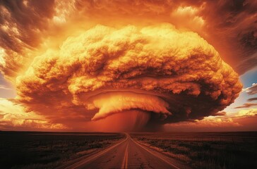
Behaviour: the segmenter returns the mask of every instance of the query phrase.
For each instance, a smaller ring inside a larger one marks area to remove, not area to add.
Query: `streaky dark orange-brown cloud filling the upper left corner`
[[[0,44],[6,61],[0,64],[4,75],[16,76],[31,50],[40,44],[41,35],[54,13],[54,1],[0,1]]]

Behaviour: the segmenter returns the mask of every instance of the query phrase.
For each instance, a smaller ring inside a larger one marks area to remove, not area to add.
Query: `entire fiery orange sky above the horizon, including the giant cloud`
[[[0,130],[256,131],[256,1],[0,1]]]

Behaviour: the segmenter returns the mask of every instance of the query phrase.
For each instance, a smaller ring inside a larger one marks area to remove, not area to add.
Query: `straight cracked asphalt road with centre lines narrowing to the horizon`
[[[157,168],[182,169],[189,168],[177,163],[160,152],[136,142],[126,133],[126,139],[92,156],[81,158],[62,168]]]

